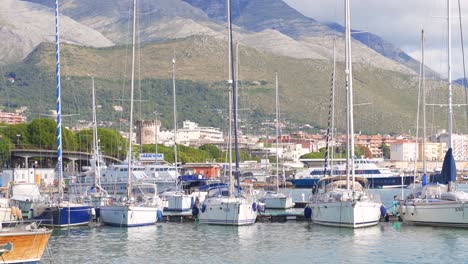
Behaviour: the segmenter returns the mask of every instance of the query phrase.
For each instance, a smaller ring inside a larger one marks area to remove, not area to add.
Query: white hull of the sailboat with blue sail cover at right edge
[[[400,205],[399,213],[404,222],[416,225],[468,227],[466,202],[420,200]]]

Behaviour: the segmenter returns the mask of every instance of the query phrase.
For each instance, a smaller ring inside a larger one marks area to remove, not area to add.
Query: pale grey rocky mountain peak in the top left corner
[[[0,64],[17,62],[41,42],[53,42],[55,20],[53,10],[39,4],[3,0],[0,8]],[[64,17],[61,21],[62,41],[93,47],[114,45],[101,33]]]

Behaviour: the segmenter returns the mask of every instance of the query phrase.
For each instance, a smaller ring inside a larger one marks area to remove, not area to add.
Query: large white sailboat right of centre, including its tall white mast
[[[346,177],[323,177],[318,192],[309,204],[312,221],[320,225],[360,228],[377,225],[382,203],[378,196],[365,191],[367,180],[355,176],[351,30],[349,0],[345,1],[346,21],[346,90],[347,90],[347,159]],[[351,173],[351,175],[350,175]]]

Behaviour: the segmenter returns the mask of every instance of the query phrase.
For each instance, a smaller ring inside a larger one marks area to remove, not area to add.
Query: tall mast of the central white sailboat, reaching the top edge
[[[228,40],[229,40],[229,83],[232,86],[232,107],[233,107],[233,124],[234,124],[234,151],[236,155],[236,168],[235,175],[237,180],[237,186],[240,186],[240,171],[239,171],[239,138],[237,131],[237,85],[234,80],[235,70],[234,70],[234,47],[232,44],[232,17],[231,17],[231,0],[227,0],[227,20],[228,20]]]

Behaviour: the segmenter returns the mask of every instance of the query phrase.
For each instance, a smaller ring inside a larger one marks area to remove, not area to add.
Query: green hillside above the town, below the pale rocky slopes
[[[190,119],[204,126],[226,126],[228,67],[226,43],[209,37],[190,37],[174,42],[147,44],[138,49],[135,102],[137,117],[152,118],[162,113],[163,125],[172,127],[172,56],[177,57],[177,104],[179,121]],[[62,46],[62,100],[64,114],[79,113],[65,119],[90,120],[91,81],[96,76],[98,119],[116,124],[128,119],[131,49],[128,46],[94,49]],[[23,63],[4,67],[0,86],[2,104],[29,107],[27,114],[37,117],[55,106],[55,51],[52,44],[42,44]],[[327,61],[282,57],[240,46],[239,52],[240,118],[249,131],[261,131],[262,121],[274,118],[274,76],[280,79],[282,119],[294,129],[303,124],[325,127],[331,86],[332,65]],[[343,65],[337,69],[337,125],[344,126]],[[427,81],[428,103],[445,103],[445,85]],[[414,131],[416,76],[354,64],[355,128],[363,133],[400,133]],[[140,88],[141,87],[141,88]],[[463,102],[461,89],[455,98]],[[124,98],[124,100],[121,100]],[[124,112],[112,106],[122,105]],[[141,109],[141,111],[140,111]],[[460,110],[457,110],[460,111]],[[431,110],[428,122],[444,128],[444,108]],[[457,113],[456,113],[457,114]],[[461,115],[458,115],[461,116]],[[67,121],[68,120],[68,121]],[[461,119],[459,119],[461,120]],[[68,122],[68,123],[67,123]],[[458,122],[462,125],[461,121]],[[251,129],[251,130],[250,130]]]

